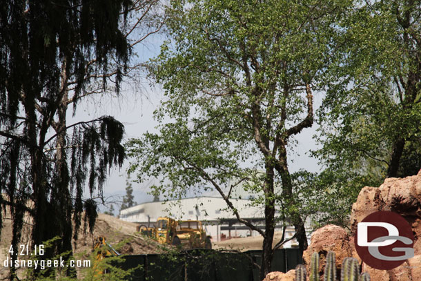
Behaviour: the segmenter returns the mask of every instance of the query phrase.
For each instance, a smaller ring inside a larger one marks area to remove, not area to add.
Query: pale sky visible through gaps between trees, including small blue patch
[[[157,37],[150,39],[136,49],[140,61],[147,61],[151,57],[159,54],[159,46],[162,39]],[[125,140],[135,137],[141,137],[146,132],[157,132],[158,122],[153,119],[153,112],[159,107],[160,101],[164,99],[164,93],[161,87],[154,84],[153,81],[142,79],[141,85],[124,84],[124,90],[119,97],[116,95],[102,95],[89,98],[82,101],[78,107],[75,117],[72,116],[72,110],[68,110],[69,124],[79,121],[95,119],[103,115],[110,115],[123,123],[126,129]],[[315,93],[314,106],[317,108],[322,104],[322,93]],[[308,151],[317,148],[313,135],[316,133],[317,124],[312,128],[305,128],[300,135],[295,138],[297,144],[294,153],[288,155],[288,165],[291,172],[305,169],[310,172],[317,172],[320,166],[317,159],[311,158]],[[126,194],[127,168],[130,159],[127,159],[121,168],[112,168],[109,171],[108,180],[104,185],[104,198],[106,206],[100,204],[99,211],[106,211],[110,204],[117,203],[114,206],[115,214],[118,213],[122,197]],[[132,179],[134,176],[132,176]],[[133,195],[138,204],[150,202],[153,196],[148,194],[149,186],[158,184],[157,182],[146,182],[138,184],[132,182]],[[88,192],[85,193],[89,197]]]

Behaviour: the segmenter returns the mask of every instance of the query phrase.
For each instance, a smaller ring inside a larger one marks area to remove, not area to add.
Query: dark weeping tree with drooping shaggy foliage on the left
[[[1,205],[12,212],[14,247],[24,215],[32,217],[34,244],[61,237],[47,257],[71,253],[83,211],[92,231],[92,196],[101,195],[107,169],[124,160],[124,126],[109,116],[69,125],[69,109],[75,113],[89,95],[118,93],[135,67],[131,47],[144,38],[130,35],[156,3],[9,0],[1,6],[0,191],[6,194]]]

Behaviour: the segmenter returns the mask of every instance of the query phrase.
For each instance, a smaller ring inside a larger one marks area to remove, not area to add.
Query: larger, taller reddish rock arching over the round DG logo
[[[378,188],[362,188],[352,207],[352,233],[355,233],[358,222],[375,211],[393,211],[402,215],[415,236],[415,255],[421,255],[421,171],[412,177],[386,179]]]

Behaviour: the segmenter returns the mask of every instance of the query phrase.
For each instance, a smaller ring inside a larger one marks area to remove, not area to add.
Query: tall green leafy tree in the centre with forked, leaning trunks
[[[157,192],[165,198],[215,188],[237,220],[263,236],[261,277],[271,269],[277,220],[292,222],[300,249],[307,247],[302,186],[287,155],[293,137],[313,124],[313,93],[322,89],[333,23],[345,7],[206,0],[170,1],[166,10],[172,41],[150,66],[166,90],[161,126],[128,142],[130,171],[163,179]],[[231,191],[240,183],[256,193],[264,230],[234,208]]]

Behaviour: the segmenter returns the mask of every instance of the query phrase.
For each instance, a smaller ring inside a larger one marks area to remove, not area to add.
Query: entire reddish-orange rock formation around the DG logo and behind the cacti
[[[373,281],[421,281],[421,171],[412,177],[386,179],[378,188],[370,186],[362,188],[357,202],[352,207],[351,235],[348,235],[342,227],[332,224],[317,229],[311,236],[309,249],[303,254],[307,272],[309,272],[313,252],[320,255],[320,275],[324,271],[328,251],[336,254],[337,273],[345,257],[357,258],[361,262],[355,251],[353,235],[355,235],[358,222],[375,211],[393,211],[409,222],[415,237],[415,257],[389,271],[373,269],[363,263],[362,271],[370,273]],[[280,273],[276,276],[284,278],[286,274]],[[267,279],[268,276],[266,276],[266,281],[290,280]]]

